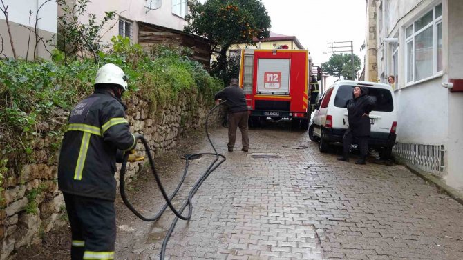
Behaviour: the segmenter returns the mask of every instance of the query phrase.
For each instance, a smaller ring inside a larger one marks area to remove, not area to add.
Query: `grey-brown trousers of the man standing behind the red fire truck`
[[[233,149],[236,141],[236,128],[239,127],[241,131],[241,143],[243,150],[249,149],[249,131],[247,128],[247,120],[249,119],[249,112],[236,112],[228,114],[228,148]]]

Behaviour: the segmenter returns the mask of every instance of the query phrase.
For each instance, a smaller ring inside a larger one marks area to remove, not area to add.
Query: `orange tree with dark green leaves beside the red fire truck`
[[[188,3],[189,14],[185,17],[188,25],[185,32],[198,34],[212,42],[211,53],[217,52],[217,61],[211,66],[215,76],[228,83],[232,75],[227,66],[227,52],[232,44],[254,44],[254,37],[269,37],[270,16],[261,0],[207,0]],[[220,51],[216,47],[220,46]]]

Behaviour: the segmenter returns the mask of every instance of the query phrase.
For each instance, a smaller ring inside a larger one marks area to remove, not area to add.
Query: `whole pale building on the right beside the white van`
[[[463,190],[463,1],[367,3],[365,79],[395,77],[395,154]]]

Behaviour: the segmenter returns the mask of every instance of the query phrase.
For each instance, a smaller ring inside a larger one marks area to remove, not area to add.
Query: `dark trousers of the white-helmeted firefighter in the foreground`
[[[68,212],[72,260],[114,259],[114,201],[63,193]]]

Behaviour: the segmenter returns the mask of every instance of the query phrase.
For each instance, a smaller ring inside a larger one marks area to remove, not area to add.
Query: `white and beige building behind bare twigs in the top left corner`
[[[3,3],[8,7],[6,11],[8,12],[11,37],[17,57],[23,59],[26,57],[33,59],[35,56],[49,58],[50,54],[47,50],[51,51],[53,47],[47,43],[47,40],[53,40],[57,33],[56,1],[4,0]],[[37,48],[35,48],[36,31],[39,38],[44,40],[37,43]],[[1,57],[13,57],[6,17],[3,12],[0,12],[0,35],[3,39]]]

